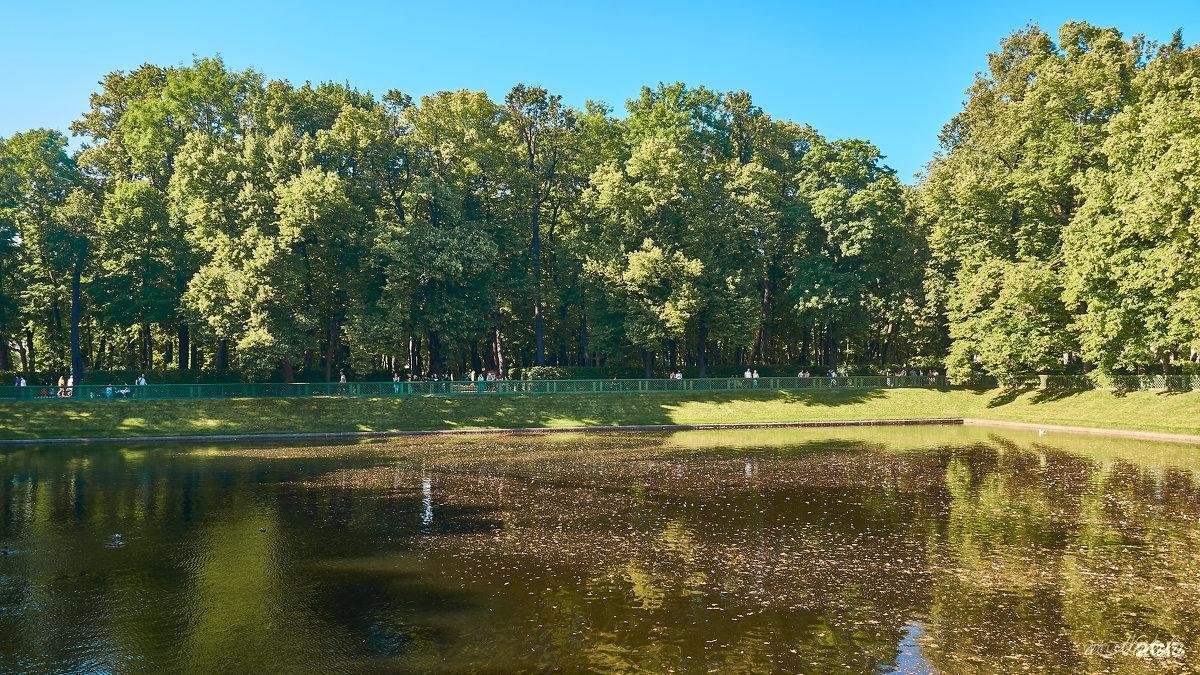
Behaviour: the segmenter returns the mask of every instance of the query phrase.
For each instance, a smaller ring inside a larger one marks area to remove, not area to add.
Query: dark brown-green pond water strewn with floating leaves
[[[976,428],[0,450],[0,671],[1190,671],[1198,454]]]

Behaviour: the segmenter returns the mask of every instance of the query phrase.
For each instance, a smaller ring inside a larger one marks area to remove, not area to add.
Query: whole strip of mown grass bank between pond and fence
[[[964,389],[0,404],[0,438],[976,417],[1200,434],[1200,393]]]

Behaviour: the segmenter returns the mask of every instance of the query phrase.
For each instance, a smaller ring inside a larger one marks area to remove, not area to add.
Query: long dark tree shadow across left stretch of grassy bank
[[[948,389],[947,389],[948,390]],[[396,399],[209,399],[0,405],[0,437],[128,437],[269,432],[432,431],[470,428],[667,425],[689,404],[738,404],[730,419],[754,422],[754,404],[862,406],[887,389],[677,392]],[[712,413],[712,411],[708,411]],[[742,419],[745,417],[746,419]]]

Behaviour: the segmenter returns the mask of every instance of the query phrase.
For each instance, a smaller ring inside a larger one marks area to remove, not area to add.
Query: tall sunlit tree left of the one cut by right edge
[[[1141,40],[1124,41],[1115,29],[1067,23],[1056,46],[1031,26],[989,55],[989,72],[943,130],[943,154],[930,166],[922,202],[935,267],[947,277],[953,374],[970,375],[979,357],[985,368],[1013,375],[972,353],[996,339],[983,330],[1013,331],[1007,342],[1020,342],[1020,323],[984,316],[1001,299],[1045,300],[1032,311],[1057,321],[1043,328],[1061,339],[1038,342],[1055,352],[1025,353],[1020,364],[1061,366],[1063,351],[1078,351],[1070,316],[1061,309],[1062,232],[1082,205],[1079,185],[1099,161],[1108,120],[1128,98],[1141,56]],[[997,263],[1014,269],[1002,271]],[[1014,286],[1026,282],[1032,286]],[[1058,293],[1046,292],[1048,283]]]

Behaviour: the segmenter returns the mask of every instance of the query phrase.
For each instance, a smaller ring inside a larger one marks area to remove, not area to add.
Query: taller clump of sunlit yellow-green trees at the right
[[[968,96],[916,205],[949,372],[1194,368],[1200,50],[1030,28]]]

